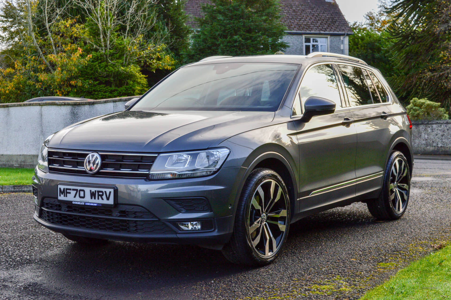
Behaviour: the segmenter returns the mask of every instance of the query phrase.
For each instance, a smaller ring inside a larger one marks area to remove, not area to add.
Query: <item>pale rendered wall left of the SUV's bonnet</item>
[[[123,111],[134,97],[139,96],[0,104],[0,167],[34,168],[46,137],[76,122]]]

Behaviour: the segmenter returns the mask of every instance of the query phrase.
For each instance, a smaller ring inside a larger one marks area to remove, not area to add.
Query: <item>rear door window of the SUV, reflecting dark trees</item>
[[[338,65],[338,68],[345,83],[349,104],[351,106],[373,104],[363,70],[350,65]]]

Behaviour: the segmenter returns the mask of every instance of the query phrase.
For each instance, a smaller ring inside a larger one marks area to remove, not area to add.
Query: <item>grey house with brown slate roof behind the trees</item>
[[[188,0],[185,12],[202,17],[202,3],[209,0]],[[280,0],[281,21],[287,31],[285,54],[308,55],[311,52],[332,52],[349,55],[352,30],[335,0]],[[188,25],[196,29],[191,18]]]

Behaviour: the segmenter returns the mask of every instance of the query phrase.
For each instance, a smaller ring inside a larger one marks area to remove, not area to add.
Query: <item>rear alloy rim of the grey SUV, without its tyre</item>
[[[404,211],[409,200],[409,174],[406,162],[398,157],[391,167],[390,173],[390,201],[396,213]]]

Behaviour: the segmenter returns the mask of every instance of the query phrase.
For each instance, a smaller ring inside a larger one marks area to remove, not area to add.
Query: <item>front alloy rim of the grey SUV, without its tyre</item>
[[[263,181],[253,194],[248,222],[252,246],[261,257],[281,247],[287,222],[287,195],[275,180]]]

